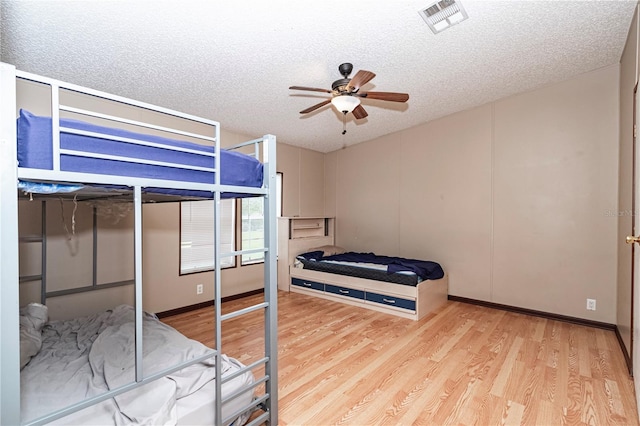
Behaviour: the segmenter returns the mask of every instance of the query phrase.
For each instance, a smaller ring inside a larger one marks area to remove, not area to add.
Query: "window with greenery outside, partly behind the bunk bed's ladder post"
[[[276,216],[282,215],[282,173],[276,173]],[[242,206],[242,249],[264,247],[264,199],[243,198]],[[264,261],[264,253],[242,255],[242,265]]]

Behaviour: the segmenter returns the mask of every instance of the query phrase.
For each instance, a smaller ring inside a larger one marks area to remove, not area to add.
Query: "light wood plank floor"
[[[278,303],[281,425],[638,424],[613,331],[459,302],[417,322],[297,293]],[[212,346],[213,308],[164,321]],[[262,321],[223,323],[222,351],[259,359]]]

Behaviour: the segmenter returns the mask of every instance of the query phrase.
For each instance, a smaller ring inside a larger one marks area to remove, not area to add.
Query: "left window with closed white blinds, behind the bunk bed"
[[[183,201],[180,203],[180,274],[214,269],[213,221],[214,201]],[[235,251],[235,200],[220,203],[220,249]],[[220,259],[221,267],[235,265],[233,256]]]

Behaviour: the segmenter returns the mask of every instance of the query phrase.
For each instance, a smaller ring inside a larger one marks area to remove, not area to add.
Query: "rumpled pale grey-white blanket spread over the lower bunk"
[[[134,310],[121,305],[82,319],[52,322],[42,348],[21,372],[22,420],[28,421],[135,381]],[[210,353],[145,314],[143,375]],[[111,423],[176,424],[176,400],[215,379],[215,358],[114,398]],[[230,368],[223,356],[222,372]]]

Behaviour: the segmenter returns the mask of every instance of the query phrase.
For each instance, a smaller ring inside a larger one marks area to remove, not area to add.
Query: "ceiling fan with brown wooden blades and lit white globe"
[[[351,74],[351,71],[353,71],[353,65],[348,62],[340,64],[340,66],[338,67],[338,71],[340,71],[340,74],[342,74],[343,78],[334,81],[331,85],[331,90],[304,86],[289,87],[289,89],[293,90],[308,90],[312,92],[329,93],[332,96],[331,98],[310,106],[307,109],[303,109],[302,111],[300,111],[300,114],[310,113],[331,103],[336,107],[338,111],[342,113],[343,123],[346,126],[346,115],[348,113],[353,113],[353,116],[357,120],[365,118],[367,115],[369,115],[360,104],[360,98],[377,99],[381,101],[391,102],[407,102],[407,100],[409,100],[409,95],[406,93],[360,92],[360,87],[370,82],[376,76],[371,71],[360,70],[356,73],[356,75],[353,76],[353,78],[349,78],[349,74]],[[343,129],[342,134],[344,135],[346,132],[346,129]]]

